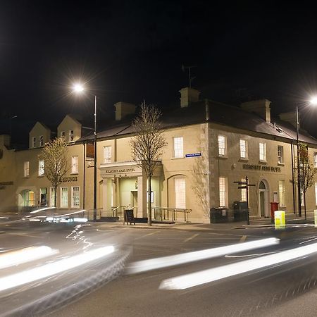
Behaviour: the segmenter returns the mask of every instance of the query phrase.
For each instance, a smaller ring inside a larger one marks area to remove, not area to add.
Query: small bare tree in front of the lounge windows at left
[[[56,206],[57,187],[69,170],[67,154],[67,143],[64,137],[58,137],[46,143],[39,154],[39,160],[44,161],[44,175],[54,188],[54,206]]]

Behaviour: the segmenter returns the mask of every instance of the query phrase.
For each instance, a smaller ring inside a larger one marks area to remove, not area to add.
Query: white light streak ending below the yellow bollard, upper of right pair
[[[189,263],[193,261],[211,259],[216,256],[224,256],[226,254],[233,254],[233,253],[238,253],[241,251],[258,249],[261,247],[269,247],[278,243],[280,243],[279,239],[271,237],[271,238],[263,239],[263,240],[231,244],[225,247],[187,252],[183,254],[176,254],[173,256],[163,256],[157,259],[137,261],[137,262],[131,263],[130,267],[128,268],[128,273],[132,274],[132,273],[146,272],[146,271],[155,270],[157,268],[166,268],[168,266],[176,266],[179,264]]]

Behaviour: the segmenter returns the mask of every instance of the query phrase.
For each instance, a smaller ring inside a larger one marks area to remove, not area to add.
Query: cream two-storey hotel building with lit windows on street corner
[[[212,207],[232,209],[235,201],[246,199],[245,189],[235,182],[247,176],[255,185],[249,189],[251,217],[269,217],[272,201],[287,213],[297,211],[295,113],[273,119],[270,104],[261,99],[228,106],[199,100],[196,89],[181,89],[180,106],[161,118],[167,146],[152,179],[152,206],[178,210],[179,220],[190,210],[189,221],[209,223]],[[145,218],[147,179],[130,153],[136,108],[123,102],[115,106],[116,120],[97,133],[97,209],[113,214],[131,208],[135,216]],[[94,135],[75,116],[66,116],[56,133],[68,141],[71,165],[58,188],[57,207],[92,210]],[[8,136],[0,137],[1,209],[54,205],[53,189],[43,176],[44,162],[37,158],[51,135],[37,123],[24,151],[11,149]],[[317,140],[304,131],[299,140],[307,144],[317,167]],[[316,209],[316,189],[317,180],[306,192],[309,211]]]

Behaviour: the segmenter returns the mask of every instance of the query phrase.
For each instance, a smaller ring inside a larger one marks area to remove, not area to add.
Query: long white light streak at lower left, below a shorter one
[[[71,256],[67,259],[62,259],[53,263],[47,263],[43,266],[32,268],[30,270],[7,275],[4,278],[0,278],[0,291],[8,290],[13,287],[27,284],[28,282],[34,282],[35,280],[40,280],[63,271],[70,270],[71,268],[82,266],[90,261],[101,259],[114,251],[115,248],[113,246],[101,247],[76,256]]]

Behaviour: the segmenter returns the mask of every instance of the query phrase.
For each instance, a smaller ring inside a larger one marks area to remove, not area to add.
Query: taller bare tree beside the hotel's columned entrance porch
[[[161,159],[166,140],[163,137],[159,118],[161,112],[154,105],[141,104],[139,116],[132,123],[135,135],[130,141],[132,158],[147,175],[148,198],[147,214],[148,225],[152,224],[151,218],[151,178],[154,175],[156,163]]]

